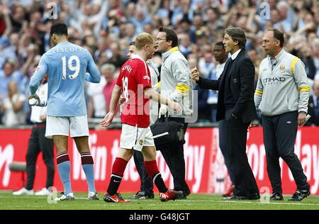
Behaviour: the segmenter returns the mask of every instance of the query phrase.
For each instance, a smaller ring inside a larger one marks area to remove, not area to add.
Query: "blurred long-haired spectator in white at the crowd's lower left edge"
[[[7,127],[25,124],[26,114],[23,113],[25,102],[26,96],[18,92],[17,82],[11,80],[8,85],[8,95],[1,106],[1,111],[4,113],[2,123]]]

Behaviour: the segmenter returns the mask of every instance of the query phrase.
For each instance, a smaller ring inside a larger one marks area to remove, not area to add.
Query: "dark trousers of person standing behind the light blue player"
[[[53,141],[45,138],[45,123],[38,123],[32,128],[32,133],[28,142],[28,152],[26,155],[27,184],[26,189],[33,189],[35,178],[35,163],[39,153],[42,152],[43,160],[47,166],[47,182],[45,187],[53,186],[55,174],[55,164],[53,160]]]

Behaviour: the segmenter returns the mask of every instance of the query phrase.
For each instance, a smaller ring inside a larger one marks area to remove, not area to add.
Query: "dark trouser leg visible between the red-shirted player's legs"
[[[138,174],[140,175],[140,191],[152,192],[153,191],[153,181],[150,175],[147,174],[147,170],[144,165],[144,157],[142,152],[134,152],[134,162],[135,167],[138,169]]]

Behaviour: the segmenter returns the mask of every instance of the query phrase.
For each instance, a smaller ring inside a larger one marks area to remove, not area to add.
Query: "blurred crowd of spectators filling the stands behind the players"
[[[69,41],[89,50],[100,69],[101,83],[86,86],[89,118],[102,118],[108,112],[119,68],[128,59],[128,45],[139,33],[156,35],[160,27],[173,28],[190,67],[196,66],[203,76],[212,78],[218,65],[213,45],[223,41],[225,28],[237,26],[247,35],[246,51],[254,62],[256,82],[259,64],[266,57],[264,31],[284,31],[284,49],[303,61],[310,84],[317,85],[310,96],[313,104],[309,103],[317,115],[309,125],[319,125],[319,82],[313,82],[319,80],[317,0],[0,0],[3,125],[30,123],[28,82],[40,56],[51,47],[52,16],[67,23]],[[160,69],[162,58],[155,55],[152,62]],[[207,93],[198,95],[198,121],[215,121],[210,102]]]

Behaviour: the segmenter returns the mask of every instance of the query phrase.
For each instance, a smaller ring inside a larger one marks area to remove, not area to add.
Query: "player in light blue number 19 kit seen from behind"
[[[57,148],[57,169],[64,186],[64,194],[55,201],[73,200],[70,182],[70,162],[67,141],[74,138],[81,154],[82,168],[89,186],[88,198],[96,200],[93,158],[89,150],[89,126],[84,99],[84,82],[99,83],[101,75],[90,53],[67,41],[67,25],[55,23],[50,30],[52,47],[40,60],[30,79],[29,99],[40,99],[35,94],[40,80],[48,74],[47,128],[45,137],[53,138]],[[89,73],[87,73],[87,72]]]

